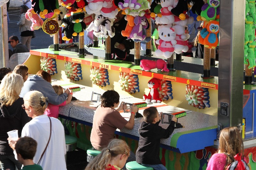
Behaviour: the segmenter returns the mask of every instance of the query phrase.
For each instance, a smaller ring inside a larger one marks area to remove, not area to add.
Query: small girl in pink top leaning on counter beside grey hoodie
[[[61,95],[64,92],[63,87],[61,87],[60,85],[52,85],[52,88],[58,95]],[[65,106],[65,105],[69,104],[71,102],[72,95],[73,95],[73,91],[69,89],[68,98],[63,103],[61,103],[59,105],[53,105],[53,104],[49,103],[44,112],[44,115],[48,115],[50,117],[54,117],[54,118],[58,119],[60,106]]]

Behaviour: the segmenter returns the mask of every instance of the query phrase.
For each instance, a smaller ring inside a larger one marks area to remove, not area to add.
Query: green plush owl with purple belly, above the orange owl
[[[220,13],[220,0],[207,0],[207,4],[202,6],[201,19],[215,20],[216,15]]]

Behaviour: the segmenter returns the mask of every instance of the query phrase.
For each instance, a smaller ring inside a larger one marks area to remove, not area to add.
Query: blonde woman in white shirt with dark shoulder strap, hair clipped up
[[[22,108],[32,120],[22,129],[21,137],[28,136],[36,140],[36,155],[33,159],[35,164],[43,169],[66,170],[64,127],[58,119],[44,115],[46,100],[47,98],[38,91],[30,91],[24,96]],[[10,146],[15,147],[15,141],[9,138],[8,140]]]

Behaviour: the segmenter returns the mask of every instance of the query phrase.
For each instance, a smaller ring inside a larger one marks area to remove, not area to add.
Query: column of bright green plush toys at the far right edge
[[[256,66],[255,58],[255,28],[256,28],[256,8],[255,1],[245,1],[245,25],[244,25],[244,64],[249,65],[248,68],[252,69]],[[248,64],[248,62],[249,64]]]

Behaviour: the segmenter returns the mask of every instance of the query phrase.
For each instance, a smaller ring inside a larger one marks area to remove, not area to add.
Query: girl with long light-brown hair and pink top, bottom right
[[[244,145],[238,128],[222,129],[220,131],[218,153],[212,155],[206,170],[226,170],[238,153],[244,155]]]

